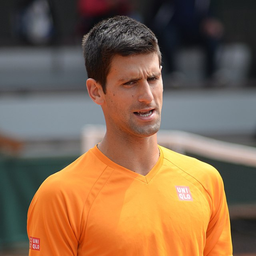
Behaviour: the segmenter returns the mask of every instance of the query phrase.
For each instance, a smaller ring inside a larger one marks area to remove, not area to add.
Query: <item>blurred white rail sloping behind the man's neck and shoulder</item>
[[[82,152],[92,148],[104,137],[104,125],[86,125],[82,132]],[[198,154],[220,161],[256,167],[256,148],[215,140],[184,131],[160,130],[157,133],[159,145],[185,154]]]

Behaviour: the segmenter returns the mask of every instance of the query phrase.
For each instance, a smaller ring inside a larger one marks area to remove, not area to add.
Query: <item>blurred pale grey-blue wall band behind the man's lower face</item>
[[[256,89],[166,90],[162,129],[197,134],[254,134]],[[0,131],[23,139],[77,139],[85,124],[104,124],[84,93],[0,95]]]

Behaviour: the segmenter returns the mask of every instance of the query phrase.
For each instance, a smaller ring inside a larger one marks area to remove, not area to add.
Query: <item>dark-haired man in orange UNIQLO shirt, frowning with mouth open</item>
[[[218,172],[157,145],[161,54],[143,24],[117,16],[83,40],[87,90],[106,134],[47,178],[29,207],[29,255],[232,255]]]

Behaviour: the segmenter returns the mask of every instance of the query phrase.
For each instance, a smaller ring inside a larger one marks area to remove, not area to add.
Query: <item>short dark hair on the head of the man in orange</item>
[[[161,52],[154,33],[144,24],[127,16],[115,16],[96,24],[82,41],[88,78],[102,85],[106,80],[112,58],[156,52],[161,65]]]

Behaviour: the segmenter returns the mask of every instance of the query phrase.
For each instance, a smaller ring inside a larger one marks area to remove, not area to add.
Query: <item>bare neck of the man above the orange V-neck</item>
[[[98,148],[113,162],[141,175],[146,175],[159,158],[156,134],[150,137],[122,137],[116,140],[116,137],[106,133]]]

